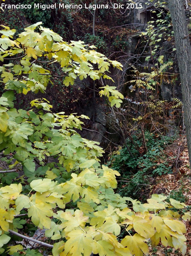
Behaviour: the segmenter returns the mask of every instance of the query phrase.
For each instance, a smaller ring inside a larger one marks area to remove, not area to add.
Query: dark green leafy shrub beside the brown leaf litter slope
[[[131,140],[127,139],[127,144],[134,157],[130,156],[124,146],[120,150],[113,152],[107,162],[108,166],[121,174],[118,186],[120,195],[144,198],[146,197],[149,183],[151,183],[155,175],[162,175],[172,171],[172,166],[168,162],[164,149],[168,144],[172,143],[175,137],[159,136],[149,131],[144,132],[144,137],[147,149],[143,149],[142,135],[136,133],[132,136],[132,139],[139,151]],[[142,154],[140,154],[141,150],[144,150]]]

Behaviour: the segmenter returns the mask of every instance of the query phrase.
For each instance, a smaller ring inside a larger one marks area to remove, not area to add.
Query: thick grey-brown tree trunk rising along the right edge
[[[189,162],[191,166],[191,46],[185,15],[185,0],[168,0],[168,3],[175,35]]]

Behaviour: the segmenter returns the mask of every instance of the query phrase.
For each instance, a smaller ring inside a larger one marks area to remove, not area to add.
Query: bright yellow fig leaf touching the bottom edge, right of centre
[[[143,253],[149,254],[149,247],[146,243],[147,241],[144,237],[139,234],[134,234],[134,236],[125,236],[122,239],[121,244],[129,249],[129,251],[136,256],[143,256]]]

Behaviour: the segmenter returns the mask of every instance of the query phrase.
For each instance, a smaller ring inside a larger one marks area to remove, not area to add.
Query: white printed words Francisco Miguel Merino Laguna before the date
[[[117,4],[118,5],[118,4]],[[116,8],[118,8],[116,5]],[[91,9],[91,10],[96,10],[96,9],[109,9],[110,7],[108,5],[87,5],[86,3],[84,3],[83,5],[76,5],[76,4],[70,4],[70,5],[66,5],[65,3],[59,3],[59,4],[42,4],[42,3],[34,3],[34,5],[24,5],[24,4],[16,4],[16,5],[10,5],[10,4],[6,4],[6,3],[1,3],[0,7],[2,9],[42,9],[42,10],[46,10],[46,9]]]

